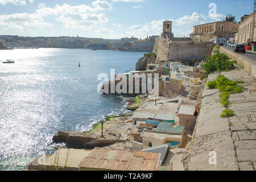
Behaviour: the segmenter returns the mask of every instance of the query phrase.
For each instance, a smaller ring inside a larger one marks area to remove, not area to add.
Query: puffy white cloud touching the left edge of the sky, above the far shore
[[[33,13],[15,13],[11,15],[0,15],[0,26],[18,28],[24,31],[25,27],[51,27],[51,23],[44,22],[42,16]]]

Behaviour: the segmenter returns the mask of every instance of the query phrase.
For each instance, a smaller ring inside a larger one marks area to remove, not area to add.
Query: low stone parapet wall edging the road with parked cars
[[[245,69],[246,72],[250,73],[251,76],[256,77],[256,61],[225,49],[224,47],[221,47],[220,51],[226,53],[232,59],[237,60],[237,62],[243,67],[243,69]]]

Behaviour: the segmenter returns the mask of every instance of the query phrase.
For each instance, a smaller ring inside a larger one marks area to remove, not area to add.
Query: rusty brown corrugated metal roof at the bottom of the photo
[[[159,170],[161,154],[113,148],[94,148],[79,164],[80,168],[115,171]]]

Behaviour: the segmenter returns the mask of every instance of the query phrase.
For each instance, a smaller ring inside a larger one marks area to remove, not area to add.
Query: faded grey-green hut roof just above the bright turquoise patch
[[[173,123],[161,122],[156,128],[156,133],[183,134],[184,126],[173,127]]]

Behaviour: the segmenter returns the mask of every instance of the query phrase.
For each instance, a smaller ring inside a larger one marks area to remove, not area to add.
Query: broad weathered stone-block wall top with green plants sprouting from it
[[[256,169],[256,80],[243,69],[221,72],[230,80],[245,81],[245,92],[231,94],[229,101],[236,116],[221,118],[219,92],[205,85],[195,138],[187,146],[183,163],[187,170]],[[219,73],[210,74],[208,80]],[[228,125],[229,123],[232,125]],[[217,164],[209,164],[209,152],[216,152]]]

